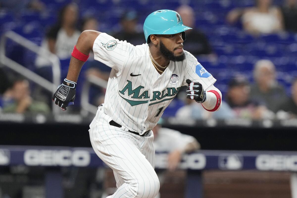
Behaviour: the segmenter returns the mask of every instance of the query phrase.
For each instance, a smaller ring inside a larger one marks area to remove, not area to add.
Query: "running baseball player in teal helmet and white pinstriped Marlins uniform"
[[[69,71],[53,100],[62,110],[75,99],[75,86],[91,50],[94,58],[112,68],[104,104],[90,124],[92,147],[113,169],[117,191],[108,198],[153,198],[159,191],[154,171],[151,129],[176,96],[187,87],[187,98],[208,111],[221,106],[215,79],[183,50],[185,31],[173,10],[151,13],[143,25],[146,44],[133,46],[106,33],[83,31],[72,51]]]

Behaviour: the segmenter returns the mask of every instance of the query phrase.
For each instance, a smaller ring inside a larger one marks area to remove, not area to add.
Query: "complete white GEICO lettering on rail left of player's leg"
[[[91,156],[88,151],[76,150],[26,150],[24,162],[28,166],[78,166],[90,164]]]

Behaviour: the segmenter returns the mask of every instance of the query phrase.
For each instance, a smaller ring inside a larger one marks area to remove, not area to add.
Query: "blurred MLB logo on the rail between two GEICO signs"
[[[243,156],[240,154],[221,154],[219,156],[219,169],[240,170],[243,166]]]

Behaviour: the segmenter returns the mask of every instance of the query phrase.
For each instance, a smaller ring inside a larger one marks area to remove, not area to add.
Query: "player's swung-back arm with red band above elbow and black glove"
[[[75,87],[81,67],[87,61],[90,51],[93,49],[94,41],[100,32],[93,30],[83,31],[74,46],[71,54],[67,77],[59,85],[53,95],[53,101],[59,105],[62,110],[66,110],[68,104],[74,104]]]

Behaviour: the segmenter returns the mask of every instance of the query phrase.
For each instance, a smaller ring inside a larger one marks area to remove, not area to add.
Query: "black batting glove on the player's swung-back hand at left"
[[[64,79],[63,83],[58,86],[57,91],[53,95],[53,101],[59,105],[62,110],[66,110],[67,106],[74,104],[76,83]]]

